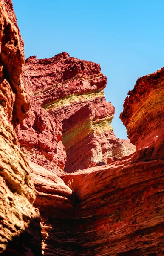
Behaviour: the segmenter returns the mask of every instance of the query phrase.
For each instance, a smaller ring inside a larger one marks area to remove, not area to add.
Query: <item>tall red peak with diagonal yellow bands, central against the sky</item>
[[[50,59],[28,58],[25,72],[29,81],[27,87],[34,92],[35,104],[41,105],[62,124],[62,143],[67,154],[66,172],[90,167],[95,160],[107,163],[108,157],[128,155],[124,141],[113,133],[111,121],[114,107],[105,101],[102,90],[107,79],[101,73],[99,64],[71,58],[68,53],[62,52]],[[30,129],[20,130],[21,147],[27,145],[24,137],[31,138]],[[133,145],[131,150],[135,151]],[[60,151],[64,152],[63,149]],[[63,157],[62,166],[64,160]],[[42,166],[45,167],[44,164]]]

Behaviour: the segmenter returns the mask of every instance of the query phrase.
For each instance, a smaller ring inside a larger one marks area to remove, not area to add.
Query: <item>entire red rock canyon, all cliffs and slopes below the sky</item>
[[[25,60],[0,1],[0,253],[164,255],[164,68],[139,78],[115,136],[99,64]]]

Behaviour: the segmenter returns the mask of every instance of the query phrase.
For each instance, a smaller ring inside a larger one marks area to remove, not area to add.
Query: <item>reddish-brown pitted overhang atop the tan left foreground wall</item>
[[[1,6],[3,4],[1,3]],[[6,105],[5,112],[8,114],[9,121],[13,122],[13,125],[17,125],[22,122],[27,116],[29,109],[28,96],[24,92],[23,83],[21,81],[22,67],[24,64],[24,52],[19,44],[19,36],[17,29],[10,22],[8,17],[1,15],[1,66],[0,72],[3,76],[2,93],[4,94],[2,104]],[[2,82],[1,80],[1,82]],[[10,93],[10,88],[7,83],[9,82],[12,90],[14,91],[13,96]],[[6,104],[10,102],[10,104]],[[10,109],[13,108],[11,111]]]

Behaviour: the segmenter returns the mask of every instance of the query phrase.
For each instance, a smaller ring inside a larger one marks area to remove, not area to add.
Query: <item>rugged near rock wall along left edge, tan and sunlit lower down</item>
[[[27,116],[21,81],[24,53],[16,27],[0,3],[0,253],[40,255],[39,214],[30,168],[13,129]]]

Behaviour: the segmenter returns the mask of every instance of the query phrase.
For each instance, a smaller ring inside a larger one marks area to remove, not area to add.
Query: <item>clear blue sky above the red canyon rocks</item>
[[[119,120],[124,99],[140,76],[164,66],[163,0],[13,0],[25,42],[25,57],[51,58],[60,52],[94,61],[107,76],[106,100]]]

